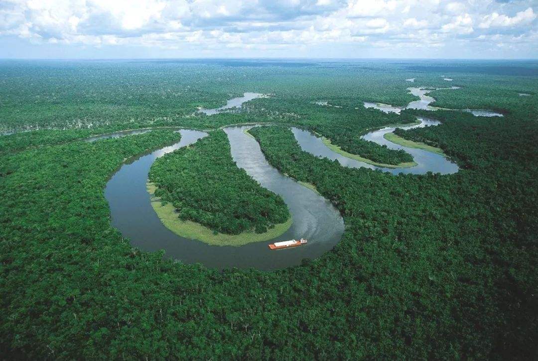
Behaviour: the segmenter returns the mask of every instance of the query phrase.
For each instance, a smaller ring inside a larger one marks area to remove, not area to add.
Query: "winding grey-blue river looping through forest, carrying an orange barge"
[[[258,93],[251,93],[258,94]],[[249,97],[242,97],[243,102]],[[237,98],[236,98],[237,99]],[[242,104],[242,103],[241,103]],[[234,106],[237,106],[234,105]],[[214,113],[213,113],[214,114]],[[423,127],[437,125],[429,119],[419,119]],[[277,169],[273,168],[261,152],[258,142],[245,131],[252,125],[229,126],[224,128],[230,141],[231,155],[237,166],[256,179],[261,186],[280,194],[287,204],[293,219],[292,226],[277,239],[256,242],[240,247],[209,246],[206,243],[186,239],[166,228],[151,206],[150,194],[146,189],[147,175],[153,162],[160,156],[178,148],[193,144],[207,136],[207,133],[192,129],[176,128],[181,133],[181,140],[146,154],[131,158],[110,178],[105,189],[108,200],[112,226],[120,230],[123,236],[131,240],[131,244],[145,251],[165,250],[165,257],[178,259],[184,263],[202,263],[209,268],[257,268],[261,270],[282,269],[300,264],[304,258],[316,258],[332,249],[344,232],[342,216],[325,198],[313,190],[295,182]],[[312,133],[292,127],[292,132],[299,145],[305,151],[316,156],[338,160],[342,165],[353,168],[370,168],[391,172],[392,174],[409,173],[424,174],[427,171],[450,174],[458,170],[457,165],[442,155],[426,150],[403,147],[389,142],[383,135],[394,128],[386,127],[364,135],[364,139],[384,144],[391,149],[404,149],[412,154],[417,163],[412,168],[380,168],[371,164],[352,160],[335,153],[325,146],[320,138]],[[105,138],[140,134],[151,131],[125,131],[98,135],[88,141]],[[271,251],[267,244],[274,241],[298,239],[309,240],[306,246]]]

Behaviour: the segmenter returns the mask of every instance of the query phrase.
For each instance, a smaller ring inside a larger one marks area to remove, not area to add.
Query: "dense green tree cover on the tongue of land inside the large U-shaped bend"
[[[155,196],[171,202],[180,219],[215,232],[264,233],[290,216],[282,197],[237,168],[221,130],[159,158],[149,178],[158,187]]]

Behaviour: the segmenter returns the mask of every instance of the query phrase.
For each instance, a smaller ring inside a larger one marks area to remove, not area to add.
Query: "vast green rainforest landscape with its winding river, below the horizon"
[[[533,359],[537,74],[0,61],[2,358]]]

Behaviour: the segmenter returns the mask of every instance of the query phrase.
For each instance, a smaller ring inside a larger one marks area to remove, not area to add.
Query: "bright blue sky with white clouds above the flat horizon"
[[[537,59],[538,0],[0,0],[0,58]]]

